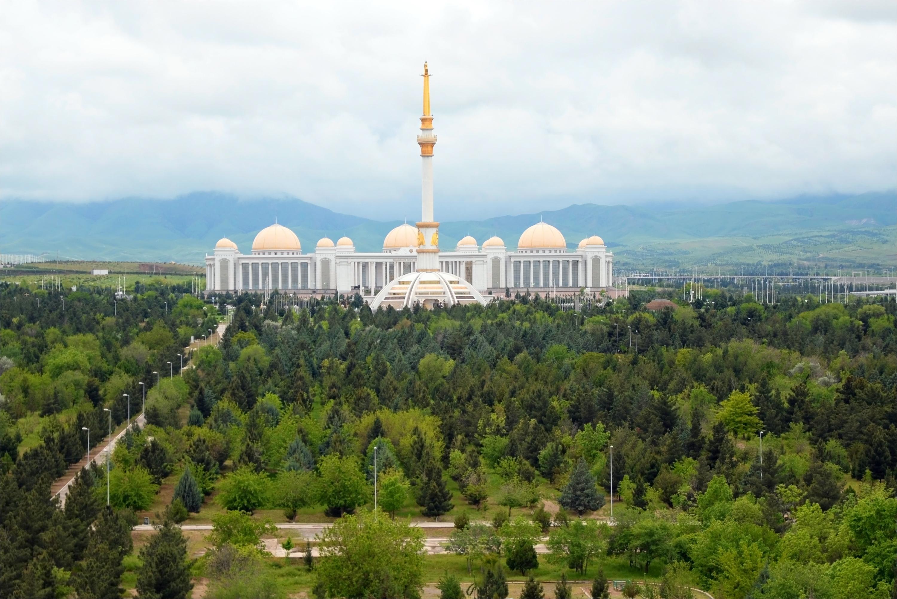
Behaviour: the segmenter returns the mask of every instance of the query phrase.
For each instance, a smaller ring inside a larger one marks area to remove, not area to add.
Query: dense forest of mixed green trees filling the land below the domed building
[[[893,301],[141,291],[0,289],[0,596],[414,597],[437,578],[443,597],[572,596],[567,578],[601,596],[608,577],[633,597],[897,596]],[[60,508],[83,429],[96,445],[127,396],[138,412],[140,383],[145,427]],[[427,519],[454,520],[453,555],[422,554]],[[335,525],[283,563],[272,521]],[[188,551],[182,522],[213,533]]]

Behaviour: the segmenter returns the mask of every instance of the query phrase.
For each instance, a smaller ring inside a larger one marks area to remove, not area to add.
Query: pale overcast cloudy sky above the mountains
[[[897,3],[0,3],[0,198],[437,218],[897,187]],[[462,211],[462,212],[457,212]]]

